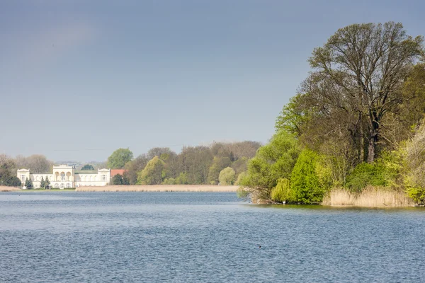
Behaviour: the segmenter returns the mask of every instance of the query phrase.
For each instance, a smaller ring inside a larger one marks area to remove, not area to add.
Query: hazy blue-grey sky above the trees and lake
[[[104,161],[266,143],[314,47],[353,23],[425,35],[425,1],[0,0],[0,153]]]

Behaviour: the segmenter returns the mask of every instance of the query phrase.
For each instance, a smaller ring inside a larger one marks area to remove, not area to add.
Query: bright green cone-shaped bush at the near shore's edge
[[[319,204],[327,188],[320,183],[317,174],[319,155],[304,149],[297,159],[290,179],[293,201],[302,204]],[[292,197],[291,197],[292,198]]]

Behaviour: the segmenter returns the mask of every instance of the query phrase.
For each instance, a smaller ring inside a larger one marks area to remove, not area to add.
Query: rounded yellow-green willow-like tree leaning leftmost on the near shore
[[[248,163],[248,171],[240,185],[249,187],[250,192],[262,200],[270,199],[270,192],[280,178],[290,179],[300,148],[292,134],[277,132],[271,141],[262,146]]]

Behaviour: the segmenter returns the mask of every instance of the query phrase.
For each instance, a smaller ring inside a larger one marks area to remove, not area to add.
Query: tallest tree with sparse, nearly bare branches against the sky
[[[375,160],[385,115],[403,101],[400,88],[424,54],[423,42],[421,36],[407,35],[401,23],[348,25],[309,59],[314,71],[302,90],[322,101],[318,109],[324,115],[358,117],[354,131],[367,142],[368,163]]]

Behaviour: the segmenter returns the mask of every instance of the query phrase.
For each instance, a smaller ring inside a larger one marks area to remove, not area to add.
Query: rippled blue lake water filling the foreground
[[[420,208],[1,193],[0,282],[423,282],[424,235]]]

